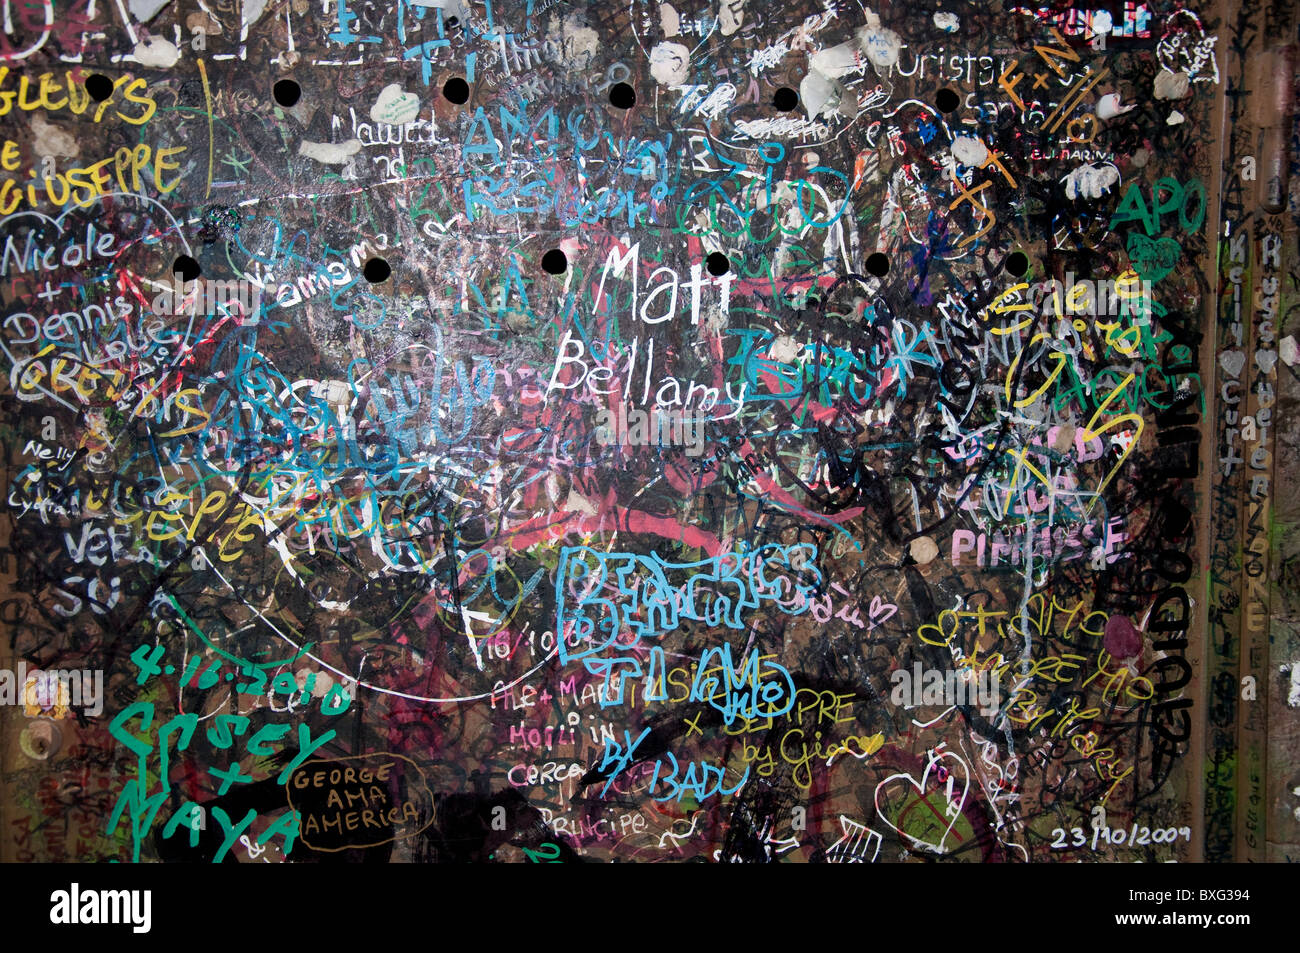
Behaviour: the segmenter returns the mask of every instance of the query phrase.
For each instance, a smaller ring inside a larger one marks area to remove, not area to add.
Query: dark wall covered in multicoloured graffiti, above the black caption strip
[[[1295,34],[12,0],[0,855],[1297,855]]]

